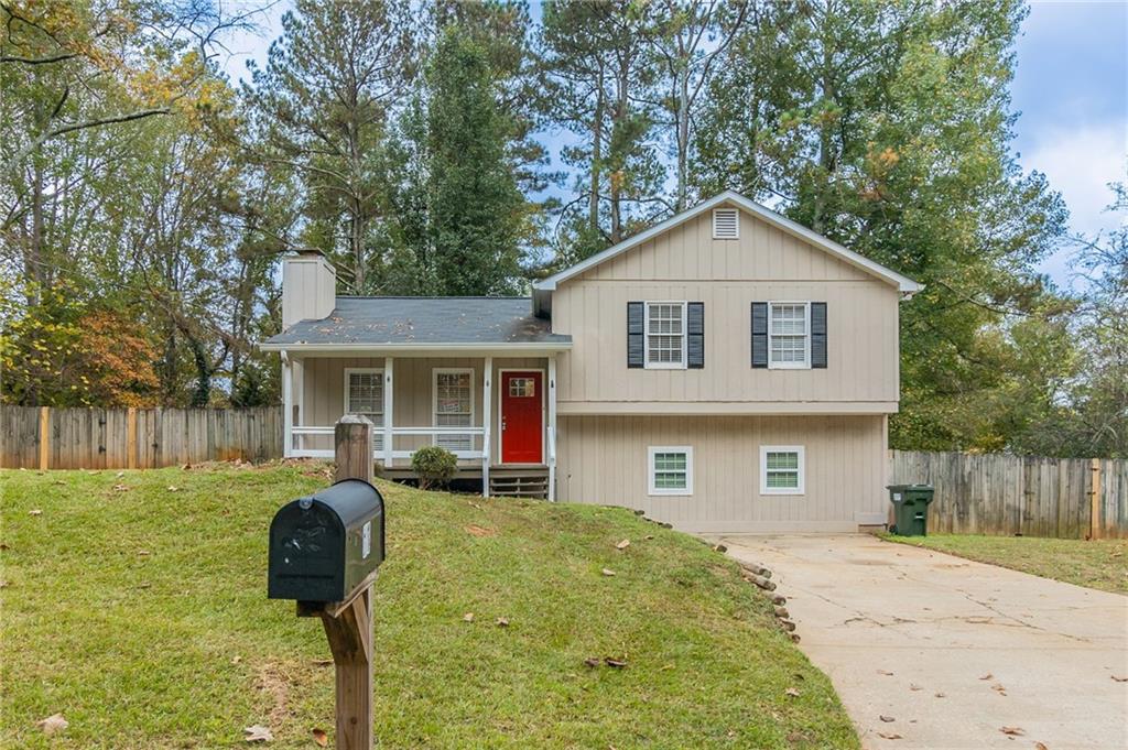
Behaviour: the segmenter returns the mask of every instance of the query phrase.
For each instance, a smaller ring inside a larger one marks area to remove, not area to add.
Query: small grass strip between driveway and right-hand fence
[[[1128,539],[1039,539],[929,535],[885,537],[1079,586],[1128,593]]]

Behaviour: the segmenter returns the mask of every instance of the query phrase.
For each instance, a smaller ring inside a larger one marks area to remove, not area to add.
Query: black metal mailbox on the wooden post
[[[342,479],[274,514],[267,597],[344,601],[382,562],[384,497],[363,479]]]

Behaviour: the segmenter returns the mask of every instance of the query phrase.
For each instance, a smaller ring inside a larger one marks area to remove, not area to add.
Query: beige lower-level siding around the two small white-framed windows
[[[562,415],[557,497],[686,531],[856,531],[883,522],[889,504],[885,418]],[[693,447],[693,495],[649,494],[651,445]],[[761,445],[804,447],[803,495],[760,495]]]

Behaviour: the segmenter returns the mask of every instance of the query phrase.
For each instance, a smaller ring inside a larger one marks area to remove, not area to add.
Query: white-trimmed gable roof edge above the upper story
[[[786,217],[783,217],[776,213],[775,211],[772,211],[770,209],[767,209],[758,203],[755,203],[754,201],[748,200],[743,195],[740,195],[739,193],[734,193],[732,191],[721,193],[720,195],[710,198],[704,203],[700,203],[691,209],[682,211],[681,213],[671,217],[670,219],[667,219],[666,221],[659,224],[655,224],[654,227],[650,228],[644,232],[640,232],[638,235],[635,235],[634,237],[624,240],[618,245],[614,245],[607,248],[602,253],[598,253],[591,256],[590,258],[583,261],[582,263],[578,263],[574,266],[565,268],[559,273],[556,273],[543,281],[539,281],[534,284],[534,289],[538,291],[555,290],[556,285],[559,284],[561,282],[584,274],[585,272],[596,268],[600,264],[603,264],[613,258],[619,257],[623,254],[627,253],[628,250],[640,247],[641,245],[647,241],[654,240],[660,236],[685,224],[686,222],[697,219],[698,217],[705,215],[706,212],[711,211],[712,209],[724,204],[731,204],[740,209],[743,209],[746,212],[752,214],[754,217],[764,221],[768,226],[786,235],[790,235],[794,238],[803,240],[804,244],[819,248],[822,252],[827,253],[832,258],[840,261],[841,263],[847,264],[853,268],[862,271],[870,276],[880,279],[885,283],[896,286],[901,292],[911,293],[922,289],[922,286],[911,279],[904,276],[890,268],[887,268],[885,266],[875,263],[866,258],[865,256],[860,255],[846,247],[843,247],[838,242],[831,241],[826,237],[822,237],[821,235],[817,235],[810,229],[803,227],[802,224],[795,223],[794,221],[787,219]]]

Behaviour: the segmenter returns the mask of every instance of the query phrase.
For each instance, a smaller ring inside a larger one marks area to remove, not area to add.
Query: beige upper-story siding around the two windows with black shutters
[[[714,240],[705,213],[561,282],[553,332],[561,414],[869,413],[897,411],[898,302],[891,284],[741,212],[740,239]],[[702,370],[628,370],[628,301],[705,303]],[[825,301],[828,367],[752,369],[754,301]],[[632,406],[634,405],[634,406]]]

